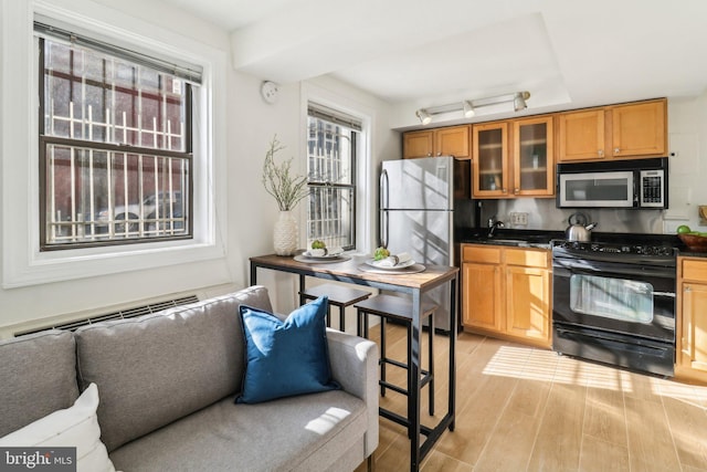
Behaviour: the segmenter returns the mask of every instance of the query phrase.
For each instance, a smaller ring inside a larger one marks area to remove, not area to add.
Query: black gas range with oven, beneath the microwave
[[[673,376],[676,237],[552,240],[552,348]]]

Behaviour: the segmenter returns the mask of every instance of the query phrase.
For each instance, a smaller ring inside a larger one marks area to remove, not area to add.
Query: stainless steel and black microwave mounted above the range
[[[557,165],[558,208],[666,209],[667,157]]]

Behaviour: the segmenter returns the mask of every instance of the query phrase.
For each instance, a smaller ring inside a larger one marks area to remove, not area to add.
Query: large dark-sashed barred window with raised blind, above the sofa
[[[39,21],[34,32],[40,250],[191,238],[201,67]]]

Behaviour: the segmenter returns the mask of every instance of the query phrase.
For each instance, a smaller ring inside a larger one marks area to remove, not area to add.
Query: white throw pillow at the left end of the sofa
[[[48,392],[51,395],[51,392]],[[18,448],[76,448],[78,472],[115,472],[108,451],[101,442],[101,427],[96,417],[98,388],[91,384],[74,406],[54,411],[4,438],[1,447]]]

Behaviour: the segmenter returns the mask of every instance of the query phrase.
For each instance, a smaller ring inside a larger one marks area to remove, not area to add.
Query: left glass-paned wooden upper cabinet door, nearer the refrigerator
[[[474,125],[473,165],[476,198],[508,197],[508,122]]]

